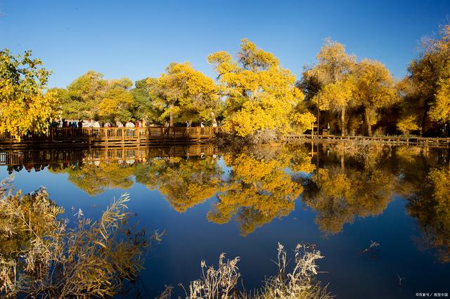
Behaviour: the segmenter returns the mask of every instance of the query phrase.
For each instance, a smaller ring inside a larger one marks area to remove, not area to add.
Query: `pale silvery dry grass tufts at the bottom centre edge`
[[[184,289],[186,298],[299,298],[299,299],[328,299],[333,298],[315,280],[318,274],[316,260],[323,258],[314,245],[297,244],[293,269],[288,271],[287,254],[283,245],[278,244],[278,273],[266,278],[264,285],[250,293],[238,291],[240,273],[237,264],[239,258],[224,262],[225,255],[219,256],[219,267],[207,267],[202,261],[202,277],[192,281],[188,290]],[[206,270],[206,272],[205,272]],[[171,289],[172,290],[172,289]],[[169,297],[163,297],[169,298]]]

